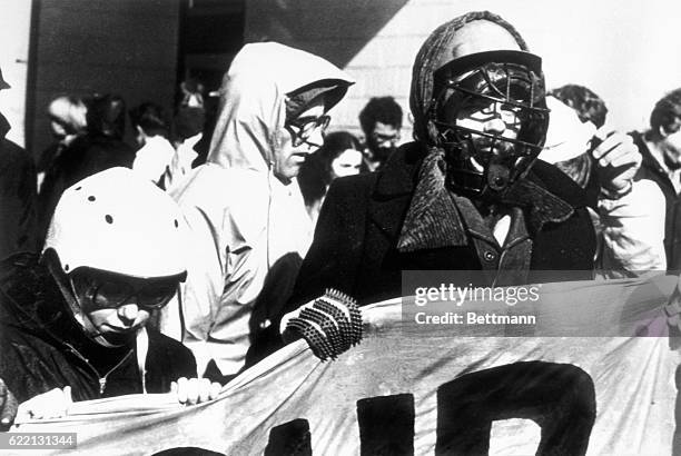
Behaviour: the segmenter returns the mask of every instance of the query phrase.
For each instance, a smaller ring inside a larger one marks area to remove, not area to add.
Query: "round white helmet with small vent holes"
[[[186,272],[186,231],[177,204],[128,168],[110,168],[69,187],[48,229],[65,274],[80,267],[138,278]]]

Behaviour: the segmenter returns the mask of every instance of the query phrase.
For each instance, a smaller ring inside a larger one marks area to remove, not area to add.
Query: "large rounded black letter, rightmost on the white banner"
[[[463,375],[437,390],[436,455],[490,450],[496,419],[542,428],[537,455],[583,455],[595,420],[593,380],[570,364],[515,363]]]

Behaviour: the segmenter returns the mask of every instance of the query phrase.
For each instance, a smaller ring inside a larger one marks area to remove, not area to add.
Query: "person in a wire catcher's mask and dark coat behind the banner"
[[[415,141],[381,172],[334,182],[287,309],[326,288],[361,304],[402,296],[403,270],[484,270],[472,274],[480,286],[526,284],[535,270],[591,279],[588,199],[536,160],[549,125],[541,63],[491,12],[437,28],[414,62]],[[599,158],[630,151],[619,138]]]

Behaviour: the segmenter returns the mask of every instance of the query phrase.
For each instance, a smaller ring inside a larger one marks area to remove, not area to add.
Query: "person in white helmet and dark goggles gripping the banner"
[[[171,388],[185,402],[215,397],[191,353],[146,327],[185,280],[184,236],[171,198],[111,168],[63,192],[40,257],[0,264],[0,378],[22,418]]]

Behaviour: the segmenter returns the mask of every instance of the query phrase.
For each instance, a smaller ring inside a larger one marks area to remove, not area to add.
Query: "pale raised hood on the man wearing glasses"
[[[276,42],[246,44],[223,80],[207,161],[266,172],[274,159],[275,135],[286,119],[287,93],[319,81],[343,90],[354,82],[312,53]]]

